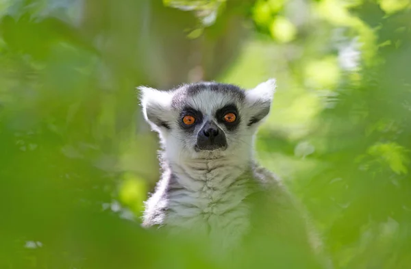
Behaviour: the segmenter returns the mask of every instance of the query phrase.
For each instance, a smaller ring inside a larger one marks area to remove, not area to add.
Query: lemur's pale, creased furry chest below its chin
[[[179,231],[207,235],[221,244],[235,244],[249,229],[253,192],[240,168],[191,170],[170,186],[166,224]]]

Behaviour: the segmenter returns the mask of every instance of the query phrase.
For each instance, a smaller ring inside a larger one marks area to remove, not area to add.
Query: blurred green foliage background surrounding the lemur
[[[135,88],[270,77],[258,157],[335,267],[411,268],[410,8],[0,0],[0,268],[214,268],[140,229],[158,140]]]

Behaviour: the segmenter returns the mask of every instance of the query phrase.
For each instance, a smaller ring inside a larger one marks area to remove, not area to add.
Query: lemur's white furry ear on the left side
[[[157,131],[160,129],[170,129],[171,99],[173,94],[169,91],[156,90],[153,88],[139,86],[140,103],[142,114],[147,123]]]

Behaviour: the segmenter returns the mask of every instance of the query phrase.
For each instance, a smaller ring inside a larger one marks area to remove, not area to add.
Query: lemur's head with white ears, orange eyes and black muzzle
[[[258,125],[269,114],[275,79],[251,90],[215,82],[138,90],[145,120],[159,133],[167,158],[247,157]]]

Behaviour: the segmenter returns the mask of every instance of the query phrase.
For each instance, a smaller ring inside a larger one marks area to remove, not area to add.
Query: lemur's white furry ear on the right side
[[[245,92],[250,112],[248,126],[260,122],[269,114],[276,87],[275,79],[269,79]]]

